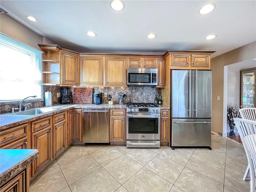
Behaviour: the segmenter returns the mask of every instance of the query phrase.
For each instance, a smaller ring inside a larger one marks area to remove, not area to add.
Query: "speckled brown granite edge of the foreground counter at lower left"
[[[0,186],[5,184],[10,178],[14,177],[16,174],[24,170],[31,162],[36,160],[39,157],[39,151],[36,149],[27,149],[35,150],[32,154],[21,160],[16,165],[8,168],[0,174]]]

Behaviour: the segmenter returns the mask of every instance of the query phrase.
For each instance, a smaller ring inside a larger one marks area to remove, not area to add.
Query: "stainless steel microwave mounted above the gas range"
[[[157,69],[155,68],[128,68],[127,85],[129,86],[156,86]]]

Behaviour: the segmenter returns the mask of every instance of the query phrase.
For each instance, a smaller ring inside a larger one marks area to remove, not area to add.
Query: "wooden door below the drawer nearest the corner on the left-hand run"
[[[65,149],[66,120],[53,125],[53,158]]]

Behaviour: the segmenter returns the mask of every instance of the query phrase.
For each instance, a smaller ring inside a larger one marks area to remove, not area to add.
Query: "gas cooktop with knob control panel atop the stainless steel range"
[[[126,112],[160,113],[160,107],[158,107],[154,103],[128,103]]]

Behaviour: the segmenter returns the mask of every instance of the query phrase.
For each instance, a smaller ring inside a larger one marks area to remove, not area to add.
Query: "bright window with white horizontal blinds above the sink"
[[[0,101],[43,98],[42,52],[0,34]]]

